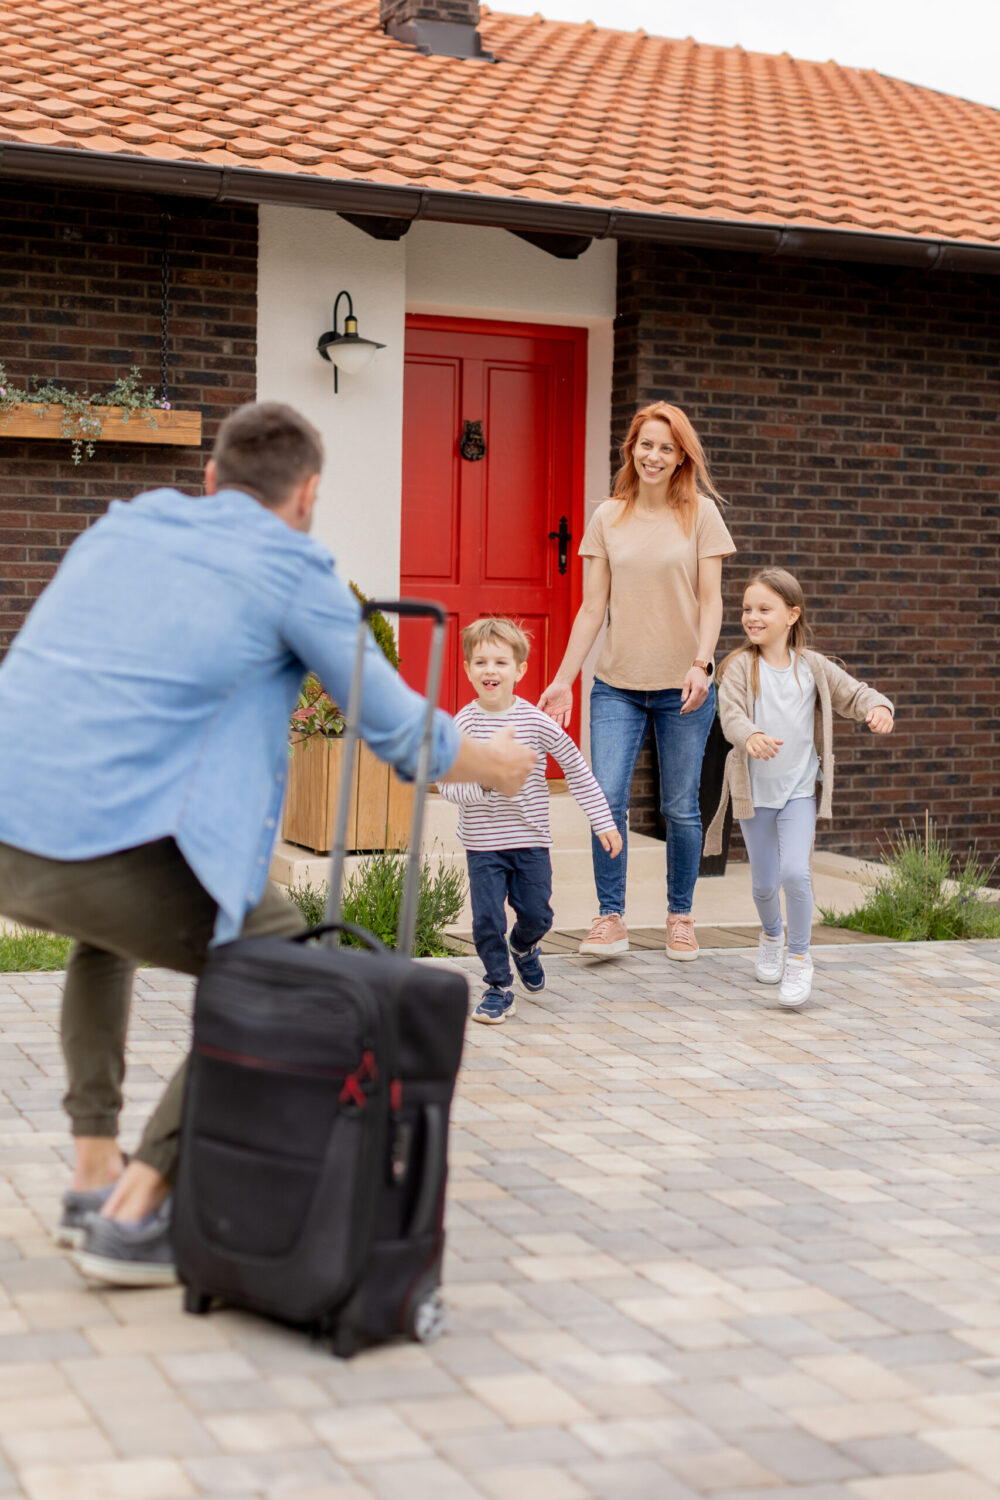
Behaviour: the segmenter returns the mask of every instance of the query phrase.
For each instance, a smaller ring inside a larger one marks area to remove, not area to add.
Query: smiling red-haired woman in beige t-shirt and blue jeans
[[[723,624],[723,558],[736,550],[702,444],[679,406],[633,417],[610,500],[580,543],[591,560],[565,656],[538,706],[565,724],[573,682],[607,616],[591,692],[591,762],[622,837],[631,778],[652,723],[667,824],[667,957],[697,958],[691,903],[702,856],[699,780],[715,714],[712,652]],[[627,846],[592,840],[600,914],[580,952],[628,951]]]

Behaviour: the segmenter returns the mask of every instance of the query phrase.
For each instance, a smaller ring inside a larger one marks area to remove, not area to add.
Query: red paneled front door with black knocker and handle
[[[511,615],[531,633],[522,698],[537,702],[559,664],[580,597],[585,382],[585,328],[406,320],[400,592],[448,612],[451,712],[472,696],[459,638],[478,615]],[[414,687],[426,663],[427,627],[403,621],[400,670]]]

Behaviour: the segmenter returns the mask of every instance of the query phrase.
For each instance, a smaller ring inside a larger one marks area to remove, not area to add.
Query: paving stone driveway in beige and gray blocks
[[[547,960],[469,1028],[451,1330],[349,1365],[82,1286],[60,976],[3,976],[0,1492],[1000,1500],[1000,944],[816,964],[789,1016],[747,951]],[[189,999],[139,980],[126,1138]]]

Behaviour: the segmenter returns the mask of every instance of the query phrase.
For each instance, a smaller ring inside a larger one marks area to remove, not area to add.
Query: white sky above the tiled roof
[[[834,58],[1000,110],[1000,0],[487,0],[517,15]]]

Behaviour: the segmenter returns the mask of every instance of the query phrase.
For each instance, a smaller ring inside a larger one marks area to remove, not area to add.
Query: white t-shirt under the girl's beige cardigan
[[[795,796],[816,796],[820,758],[816,753],[816,678],[802,657],[786,668],[759,658],[760,692],[754,699],[754,724],[783,740],[774,760],[750,762],[754,807],[784,807]]]

